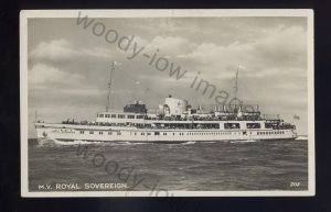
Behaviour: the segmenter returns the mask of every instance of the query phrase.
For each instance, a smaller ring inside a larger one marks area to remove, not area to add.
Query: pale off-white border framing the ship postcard
[[[77,18],[82,11],[90,18],[168,16],[307,16],[308,30],[308,190],[307,191],[169,191],[173,197],[307,197],[316,194],[314,169],[314,87],[313,11],[277,10],[22,10],[20,13],[20,112],[21,112],[21,196],[22,197],[149,197],[150,191],[29,191],[28,179],[28,19]]]

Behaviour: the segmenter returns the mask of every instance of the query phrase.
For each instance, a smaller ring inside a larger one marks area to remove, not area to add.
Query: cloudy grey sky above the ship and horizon
[[[126,51],[118,47],[124,36],[132,38]],[[232,99],[239,68],[244,104],[259,104],[263,114],[280,114],[307,134],[307,18],[108,18],[86,27],[77,19],[29,19],[29,123],[35,111],[45,122],[95,120],[105,111],[113,62],[116,110],[136,100],[157,109],[169,94],[212,108],[215,96],[191,88],[194,77]],[[171,66],[181,67],[181,78],[169,75]]]

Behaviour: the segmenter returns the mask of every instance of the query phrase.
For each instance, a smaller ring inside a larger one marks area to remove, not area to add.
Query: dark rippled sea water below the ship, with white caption
[[[308,141],[159,144],[30,140],[29,190],[63,191],[56,185],[64,190],[85,190],[86,185],[96,190],[137,191],[307,190]]]

